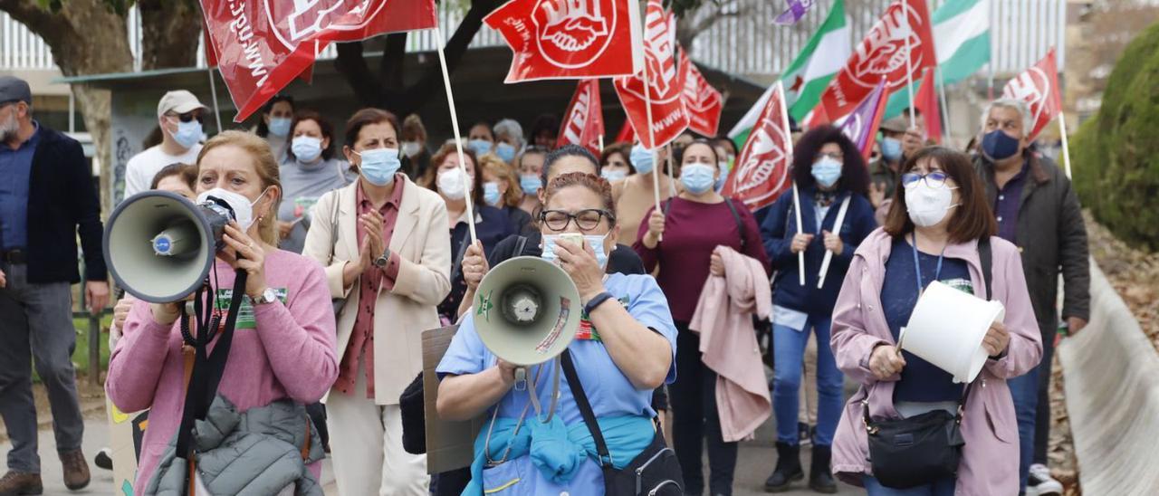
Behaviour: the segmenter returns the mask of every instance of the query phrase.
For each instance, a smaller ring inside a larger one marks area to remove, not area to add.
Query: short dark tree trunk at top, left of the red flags
[[[141,70],[192,67],[202,12],[194,0],[140,0]]]

